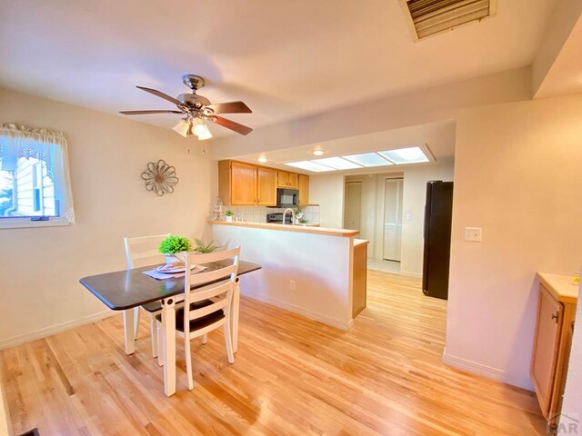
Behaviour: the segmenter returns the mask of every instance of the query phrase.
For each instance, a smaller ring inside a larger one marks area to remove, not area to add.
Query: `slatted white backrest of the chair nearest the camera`
[[[186,271],[190,271],[193,264],[213,263],[212,270],[208,272],[186,273],[184,280],[184,307],[188,311],[184,316],[184,332],[190,332],[190,320],[206,316],[210,313],[218,312],[221,309],[229,316],[230,306],[233,299],[233,290],[236,285],[236,272],[238,272],[238,259],[240,247],[223,252],[194,254],[191,252],[181,253],[186,263]],[[216,268],[216,269],[215,269]],[[221,280],[222,279],[222,280]],[[197,289],[192,286],[208,283]],[[213,304],[202,308],[192,309],[192,302],[213,299]]]

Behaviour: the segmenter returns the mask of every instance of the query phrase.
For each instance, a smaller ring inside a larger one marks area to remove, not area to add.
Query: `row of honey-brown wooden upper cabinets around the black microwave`
[[[299,189],[309,203],[309,176],[236,161],[218,162],[218,195],[233,206],[276,206],[276,189]]]

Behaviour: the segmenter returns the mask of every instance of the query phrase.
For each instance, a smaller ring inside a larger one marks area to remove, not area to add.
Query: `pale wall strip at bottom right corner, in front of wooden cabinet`
[[[578,199],[580,196],[578,195]],[[577,327],[574,329],[574,338],[572,339],[572,349],[570,352],[570,362],[567,370],[567,385],[564,392],[564,402],[562,404],[562,412],[572,418],[578,420],[577,432],[561,431],[558,434],[582,434],[582,328],[580,328],[580,320],[582,320],[582,285],[578,292],[577,304]],[[560,422],[559,430],[569,430],[567,425],[573,421],[566,418]]]

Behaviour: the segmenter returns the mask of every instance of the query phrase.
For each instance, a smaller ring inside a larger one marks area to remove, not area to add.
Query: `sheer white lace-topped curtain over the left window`
[[[0,159],[21,157],[33,157],[46,163],[46,172],[55,183],[61,217],[75,223],[65,134],[24,125],[0,124]]]

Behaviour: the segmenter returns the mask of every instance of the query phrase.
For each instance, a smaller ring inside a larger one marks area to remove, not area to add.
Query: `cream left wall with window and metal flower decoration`
[[[65,132],[76,214],[66,227],[0,229],[0,348],[109,314],[78,280],[124,269],[125,235],[205,232],[216,163],[191,138],[5,90],[0,120]],[[158,159],[176,166],[176,193],[146,192],[140,174]]]

